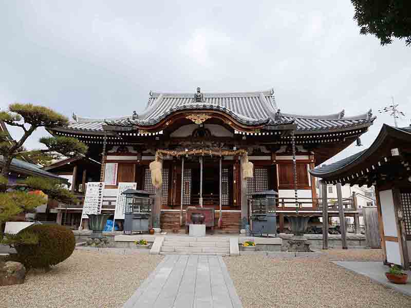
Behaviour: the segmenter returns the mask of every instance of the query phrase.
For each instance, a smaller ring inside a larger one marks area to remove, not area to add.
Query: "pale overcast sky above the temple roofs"
[[[368,146],[383,123],[394,123],[377,112],[391,95],[407,113],[399,124],[410,124],[411,48],[360,35],[353,14],[348,0],[0,0],[0,106],[108,118],[141,111],[150,90],[274,88],[283,112],[372,108]],[[38,148],[45,133],[27,147]]]

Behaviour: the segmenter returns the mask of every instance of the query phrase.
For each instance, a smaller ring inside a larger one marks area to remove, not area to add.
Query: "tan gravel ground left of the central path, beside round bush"
[[[162,259],[76,250],[48,273],[0,287],[0,307],[121,307]]]

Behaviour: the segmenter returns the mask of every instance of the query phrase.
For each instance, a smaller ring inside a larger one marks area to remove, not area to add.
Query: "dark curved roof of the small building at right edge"
[[[403,144],[411,143],[411,127],[396,128],[384,124],[378,134],[376,140],[371,146],[361,152],[344,158],[338,162],[322,165],[310,170],[310,174],[314,177],[323,179],[334,179],[343,176],[350,172],[354,167],[362,163],[370,163],[370,158],[373,154],[379,155],[381,148],[387,146],[388,142],[393,142],[394,139],[400,140]],[[388,149],[389,150],[389,149]]]

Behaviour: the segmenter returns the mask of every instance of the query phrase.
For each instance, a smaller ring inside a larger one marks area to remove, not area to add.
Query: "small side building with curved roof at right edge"
[[[411,256],[411,127],[384,124],[372,145],[310,170],[324,185],[375,186],[384,264],[407,268]]]

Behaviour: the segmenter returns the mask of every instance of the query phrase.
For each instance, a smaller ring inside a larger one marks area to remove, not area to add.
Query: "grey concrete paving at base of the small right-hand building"
[[[393,288],[398,292],[411,296],[411,271],[407,271],[408,281],[406,284],[394,284],[390,283],[387,280],[387,277],[385,277],[388,266],[384,265],[382,262],[335,261],[334,263],[357,274],[367,276],[371,280]]]

